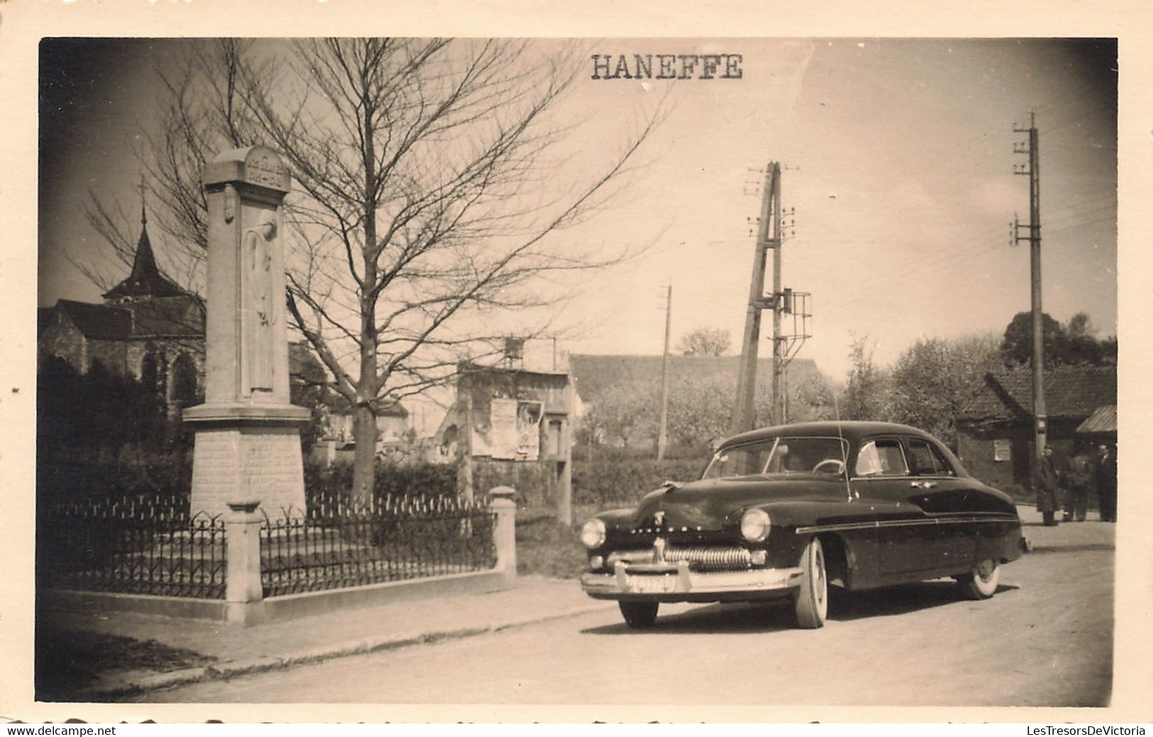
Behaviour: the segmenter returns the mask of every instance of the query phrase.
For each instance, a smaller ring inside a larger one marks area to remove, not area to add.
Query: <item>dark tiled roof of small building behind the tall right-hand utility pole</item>
[[[1116,366],[1056,366],[1045,370],[1045,409],[1050,419],[1084,420],[1099,407],[1116,404]],[[1031,419],[1032,369],[1024,366],[986,374],[984,385],[962,405],[959,415],[984,423]]]

